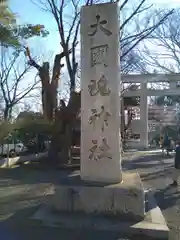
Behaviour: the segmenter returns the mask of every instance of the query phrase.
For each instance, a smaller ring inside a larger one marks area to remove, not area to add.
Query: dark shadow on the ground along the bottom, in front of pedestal
[[[97,231],[88,229],[67,229],[63,226],[45,227],[41,222],[30,219],[37,207],[28,207],[17,211],[8,219],[0,222],[0,239],[7,240],[140,240],[144,236],[122,236],[115,231]],[[145,237],[146,240],[153,240]]]

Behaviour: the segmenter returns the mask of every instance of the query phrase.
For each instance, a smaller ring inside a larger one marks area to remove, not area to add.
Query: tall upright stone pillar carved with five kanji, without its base
[[[120,157],[120,46],[116,3],[81,10],[81,179],[117,183]]]

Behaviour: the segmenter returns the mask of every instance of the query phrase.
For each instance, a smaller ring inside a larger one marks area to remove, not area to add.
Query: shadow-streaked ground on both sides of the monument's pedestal
[[[130,158],[134,156],[131,161]],[[124,170],[137,169],[146,188],[156,196],[170,228],[170,240],[180,239],[180,187],[170,188],[173,158],[160,153],[125,154]],[[48,201],[52,185],[69,171],[39,170],[32,165],[0,169],[0,239],[104,239],[120,240],[117,233],[67,231],[63,228],[44,228],[29,219],[39,203]],[[36,231],[34,231],[36,230]],[[133,239],[134,240],[134,239]],[[138,238],[140,240],[140,238]],[[147,240],[147,239],[146,239]]]

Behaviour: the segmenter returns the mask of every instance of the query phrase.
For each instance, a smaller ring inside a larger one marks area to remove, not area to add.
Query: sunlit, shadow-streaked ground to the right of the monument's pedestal
[[[170,229],[169,240],[180,239],[180,186],[170,187],[173,157],[161,153],[140,156],[132,161],[132,169],[140,172],[144,186],[155,193],[156,200]]]

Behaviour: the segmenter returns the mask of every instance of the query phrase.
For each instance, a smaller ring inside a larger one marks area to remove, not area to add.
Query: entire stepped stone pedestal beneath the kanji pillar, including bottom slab
[[[74,229],[81,239],[89,233],[93,233],[89,239],[104,239],[106,234],[109,239],[168,239],[166,221],[153,194],[144,192],[137,173],[123,173],[122,183],[113,185],[82,181],[78,174],[60,174],[59,185],[49,191],[53,195],[44,196],[48,205],[43,204],[31,217],[41,226],[58,229],[60,236],[62,230]]]

